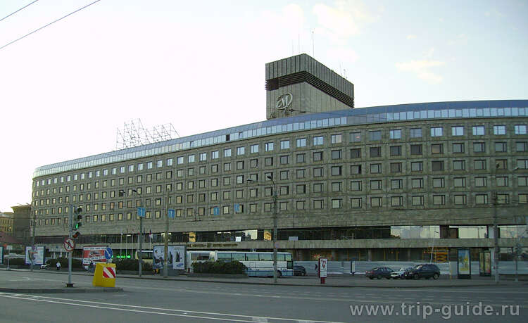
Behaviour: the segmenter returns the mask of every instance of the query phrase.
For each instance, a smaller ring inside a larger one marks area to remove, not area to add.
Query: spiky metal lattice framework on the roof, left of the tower
[[[172,124],[154,126],[151,130],[143,127],[140,119],[125,122],[122,129],[117,129],[115,149],[125,149],[180,137]]]

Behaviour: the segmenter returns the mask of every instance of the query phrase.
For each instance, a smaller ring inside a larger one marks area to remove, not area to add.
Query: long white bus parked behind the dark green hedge
[[[193,262],[239,261],[246,267],[250,277],[273,276],[273,253],[260,251],[187,251],[187,270],[192,271]],[[291,253],[277,253],[277,277],[293,276],[294,262]]]

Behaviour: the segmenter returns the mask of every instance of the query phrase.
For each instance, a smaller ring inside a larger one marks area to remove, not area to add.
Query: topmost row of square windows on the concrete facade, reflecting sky
[[[420,138],[422,137],[422,128],[410,128],[409,130],[409,137],[410,138]],[[389,129],[389,138],[390,139],[401,139],[402,138],[402,129]],[[453,126],[451,127],[452,135],[453,136],[463,136],[465,134],[465,128],[463,126]],[[444,136],[444,127],[431,127],[430,128],[431,137],[441,137]],[[514,125],[513,126],[513,132],[514,134],[527,134],[527,125]],[[368,139],[369,141],[381,141],[382,140],[382,130],[372,130],[367,131],[368,133]],[[472,127],[472,134],[474,136],[482,136],[485,132],[485,126],[484,125],[478,125]],[[506,134],[506,125],[494,125],[493,126],[493,134],[495,135],[503,135]],[[357,131],[357,132],[351,132],[349,134],[349,141],[350,142],[361,142],[363,138],[363,131]],[[325,137],[320,135],[313,136],[313,146],[323,146],[325,145]],[[296,139],[296,146],[298,148],[306,147],[307,146],[307,138],[299,138]],[[330,135],[330,143],[331,144],[341,144],[343,142],[343,135],[342,134],[331,134]],[[483,143],[482,143],[483,144]],[[526,151],[526,142],[524,143],[518,143],[517,145],[517,151]],[[275,143],[273,141],[266,142],[263,144],[265,151],[274,151],[275,150]],[[524,146],[524,148],[523,148]],[[252,144],[250,146],[250,153],[258,153],[259,152],[259,144]],[[280,149],[285,150],[290,148],[290,140],[281,140],[280,141]],[[521,150],[520,150],[521,149]],[[223,151],[223,157],[229,158],[232,156],[232,148],[224,148]],[[246,153],[245,146],[239,146],[236,148],[237,156],[242,156]],[[196,160],[196,156],[198,156],[199,161],[206,161],[208,160],[208,153],[203,152],[199,154],[189,154],[187,156],[187,163],[194,163]],[[210,152],[210,158],[212,160],[220,158],[220,151],[211,151]],[[177,165],[183,165],[184,164],[184,156],[178,156],[176,159]],[[315,160],[315,159],[314,159]],[[165,163],[163,163],[165,161]],[[152,169],[154,165],[156,167],[163,167],[168,166],[171,167],[174,163],[174,158],[166,158],[158,159],[156,160],[156,163],[154,164],[153,161],[145,162],[145,163],[137,163],[137,164],[130,164],[130,165],[121,165],[119,167],[112,167],[110,169],[103,169],[101,170],[95,170],[95,171],[88,171],[88,172],[81,172],[80,174],[74,174],[74,175],[66,175],[61,177],[54,177],[49,179],[41,179],[34,182],[35,186],[44,186],[45,184],[58,184],[63,182],[70,182],[71,180],[78,180],[78,179],[85,179],[85,178],[93,178],[93,177],[101,177],[107,176],[109,174],[111,175],[117,175],[117,174],[125,174],[125,170],[128,170],[128,172],[134,172],[134,171],[142,171],[144,170],[144,167],[146,166],[146,169]]]

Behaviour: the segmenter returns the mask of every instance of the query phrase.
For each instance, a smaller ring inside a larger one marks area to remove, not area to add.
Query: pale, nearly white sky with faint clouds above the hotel
[[[94,0],[0,0],[0,48]],[[4,17],[7,18],[3,19]],[[0,211],[35,168],[265,120],[265,63],[308,53],[356,107],[528,99],[528,1],[101,0],[0,49]]]

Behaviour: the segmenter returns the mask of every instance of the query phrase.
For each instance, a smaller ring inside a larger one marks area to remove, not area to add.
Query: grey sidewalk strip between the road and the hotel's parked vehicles
[[[19,272],[27,272],[29,270],[15,270]],[[52,270],[36,270],[36,272],[46,272],[50,275],[61,274],[64,275],[64,280],[67,281],[68,272],[56,272]],[[175,277],[163,278],[163,275],[145,274],[138,277],[137,274],[119,274],[117,273],[116,286],[119,286],[121,279],[152,279],[152,280],[168,280],[168,281],[208,281],[214,283],[224,284],[253,284],[253,285],[274,285],[272,278],[265,277],[247,277],[247,278],[209,278],[209,277],[187,277],[187,275],[180,275]],[[88,272],[73,272],[73,276],[84,275],[92,276]],[[73,279],[75,281],[75,279]],[[106,288],[94,287],[92,284],[75,284],[73,288],[66,288],[65,284],[46,280],[17,280],[6,281],[0,280],[0,292],[11,293],[79,293],[79,292],[107,292],[107,291],[122,291],[121,288]],[[37,286],[35,286],[37,285]],[[320,279],[315,276],[304,277],[282,277],[278,279],[277,285],[280,286],[320,286],[320,287],[346,287],[346,288],[394,288],[394,289],[415,289],[415,288],[460,288],[460,287],[479,287],[479,286],[497,286],[493,277],[472,277],[472,279],[449,279],[446,275],[441,276],[440,279],[420,279],[420,280],[401,280],[401,279],[367,279],[363,275],[335,275],[327,277],[325,284],[320,284]],[[527,281],[519,281],[515,283],[513,280],[502,279],[498,286],[528,286]]]

